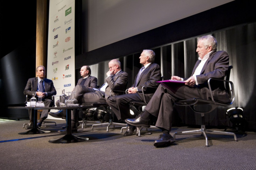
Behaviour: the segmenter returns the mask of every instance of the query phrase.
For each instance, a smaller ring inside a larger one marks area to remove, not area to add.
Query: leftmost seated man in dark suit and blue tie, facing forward
[[[53,85],[53,81],[45,78],[45,67],[42,65],[38,66],[36,69],[36,74],[38,77],[30,78],[27,81],[25,90],[23,91],[24,95],[27,95],[29,99],[33,94],[36,97],[42,96],[42,101],[45,104],[45,107],[54,106],[52,96],[56,95],[56,90]],[[37,123],[38,128],[41,127],[43,120],[47,118],[49,111],[50,110],[42,110],[39,122]],[[26,129],[31,129],[33,127],[32,109],[29,109],[29,119],[30,123],[27,125]]]

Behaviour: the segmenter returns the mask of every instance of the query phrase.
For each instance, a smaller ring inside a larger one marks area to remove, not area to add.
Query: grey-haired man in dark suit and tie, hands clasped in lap
[[[142,87],[158,87],[159,83],[156,81],[160,81],[161,79],[160,66],[156,63],[153,63],[155,59],[155,53],[152,50],[143,50],[139,59],[143,67],[139,70],[133,86],[128,89],[128,94],[113,96],[107,99],[107,104],[109,104],[112,111],[119,120],[125,120],[126,118],[133,117],[133,115],[130,114],[129,102],[144,101]],[[151,99],[153,93],[154,92],[151,90],[147,90],[144,93],[146,101]],[[128,125],[127,131],[124,135],[132,135],[135,128],[135,126]]]

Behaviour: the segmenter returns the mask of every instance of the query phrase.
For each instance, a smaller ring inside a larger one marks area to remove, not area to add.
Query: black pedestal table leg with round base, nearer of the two
[[[66,135],[61,138],[50,140],[50,143],[77,143],[87,141],[89,138],[77,137],[71,131],[71,109],[66,109]]]

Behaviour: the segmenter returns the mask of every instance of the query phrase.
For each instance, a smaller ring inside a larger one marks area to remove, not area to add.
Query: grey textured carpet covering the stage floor
[[[209,147],[200,135],[177,135],[177,142],[168,147],[155,148],[154,140],[160,130],[142,130],[142,136],[123,136],[121,126],[78,129],[75,136],[88,137],[79,143],[55,144],[49,140],[64,134],[57,131],[65,121],[54,120],[43,130],[45,134],[20,135],[27,120],[0,122],[0,167],[6,169],[256,169],[256,134],[237,133],[238,142],[232,136],[208,135]],[[191,130],[191,127],[173,127],[171,134]],[[216,129],[223,131],[224,129]]]

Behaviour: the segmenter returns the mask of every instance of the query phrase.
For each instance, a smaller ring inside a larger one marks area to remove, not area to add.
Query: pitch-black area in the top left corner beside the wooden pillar
[[[36,35],[37,1],[1,2],[0,57],[15,50]]]

